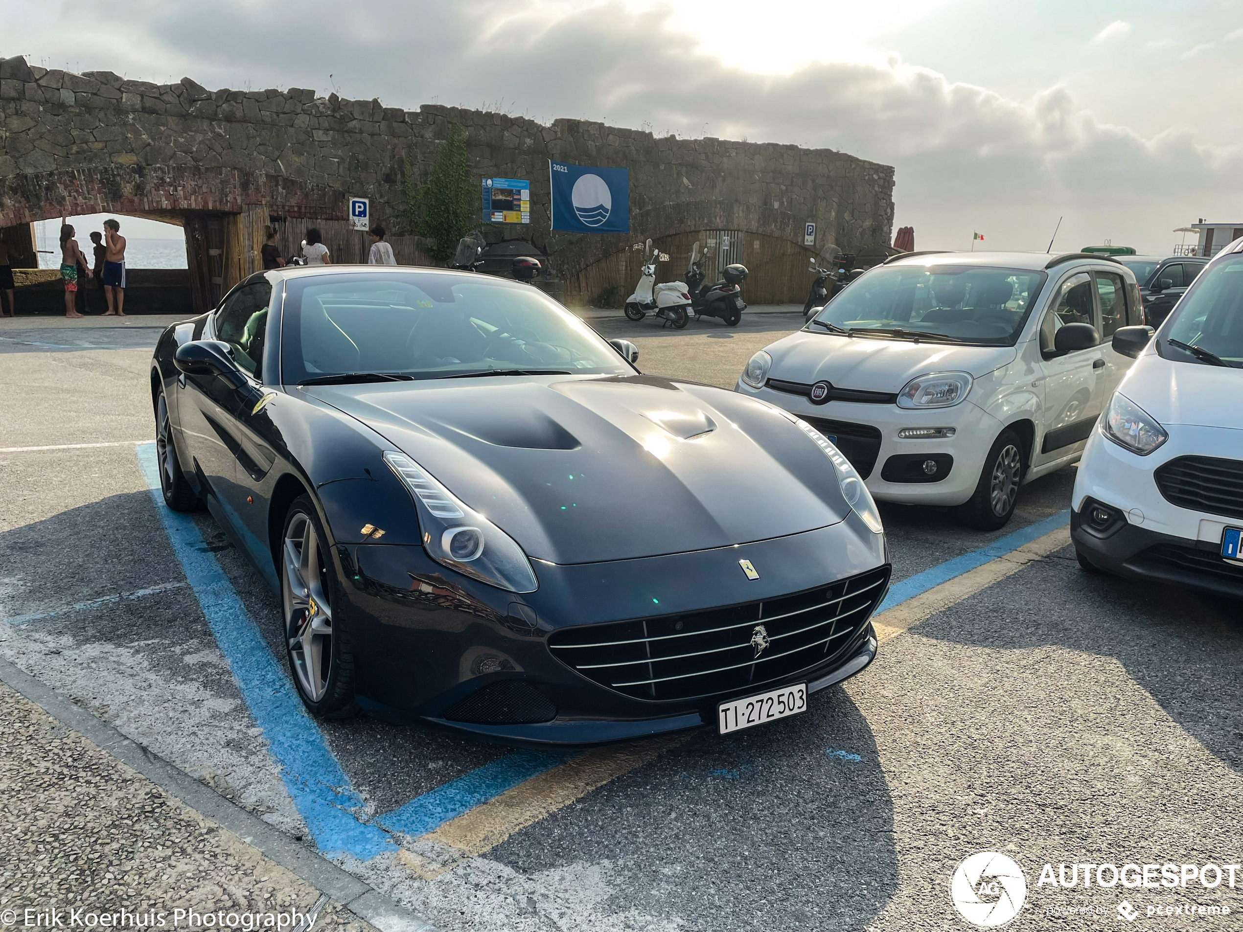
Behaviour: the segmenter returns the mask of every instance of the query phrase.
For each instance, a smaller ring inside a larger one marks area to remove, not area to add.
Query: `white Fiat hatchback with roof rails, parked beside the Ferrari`
[[[1135,276],[1085,254],[910,252],[869,270],[736,386],[828,436],[875,498],[1009,521],[1075,462],[1131,359]]]

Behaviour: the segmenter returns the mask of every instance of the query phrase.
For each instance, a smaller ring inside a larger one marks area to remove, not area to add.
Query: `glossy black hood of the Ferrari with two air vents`
[[[552,563],[730,547],[849,513],[833,465],[797,426],[706,385],[493,377],[310,391]]]

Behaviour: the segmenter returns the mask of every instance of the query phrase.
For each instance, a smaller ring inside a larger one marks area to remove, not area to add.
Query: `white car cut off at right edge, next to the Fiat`
[[[1243,239],[1136,355],[1084,451],[1070,529],[1084,569],[1243,598]]]

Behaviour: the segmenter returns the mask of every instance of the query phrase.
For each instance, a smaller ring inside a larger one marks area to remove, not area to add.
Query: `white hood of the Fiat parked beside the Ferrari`
[[[962,347],[912,343],[904,339],[792,333],[766,348],[773,364],[769,378],[837,388],[896,394],[916,375],[966,372],[979,378],[1011,363],[1014,347]]]

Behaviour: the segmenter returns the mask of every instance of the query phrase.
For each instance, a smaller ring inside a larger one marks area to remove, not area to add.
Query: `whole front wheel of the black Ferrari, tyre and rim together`
[[[354,655],[342,618],[346,599],[310,496],[296,498],[285,517],[280,572],[285,646],[302,703],[319,718],[354,715]]]

